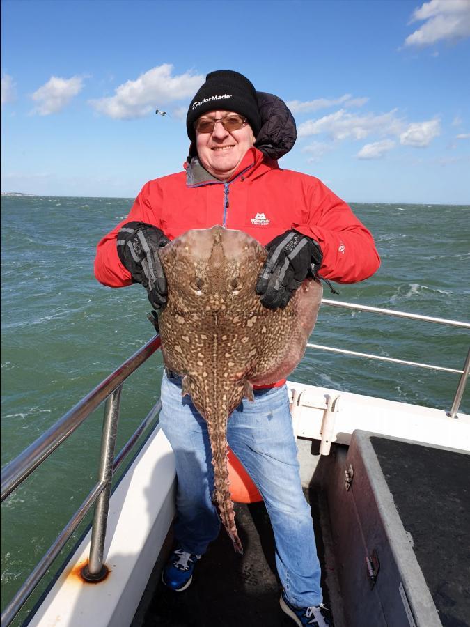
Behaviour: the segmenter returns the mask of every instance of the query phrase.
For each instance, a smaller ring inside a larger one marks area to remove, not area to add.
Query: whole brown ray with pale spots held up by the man
[[[159,316],[167,368],[183,376],[207,422],[214,500],[237,552],[242,543],[230,499],[227,421],[253,385],[287,377],[304,355],[322,299],[306,279],[285,309],[263,307],[255,286],[267,253],[242,231],[213,226],[187,231],[159,250],[168,300]]]

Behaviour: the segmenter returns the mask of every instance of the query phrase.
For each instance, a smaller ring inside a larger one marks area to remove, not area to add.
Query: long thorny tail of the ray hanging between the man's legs
[[[219,506],[220,517],[228,536],[233,541],[233,548],[243,555],[243,547],[235,525],[235,511],[228,488],[228,443],[226,438],[227,419],[208,420],[210,446],[212,449],[212,465],[214,466],[214,499]]]

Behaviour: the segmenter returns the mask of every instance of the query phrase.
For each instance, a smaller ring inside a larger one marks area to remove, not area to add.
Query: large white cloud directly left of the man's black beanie
[[[90,104],[100,113],[118,120],[142,118],[155,107],[166,107],[173,100],[194,95],[203,84],[203,75],[189,72],[172,76],[173,65],[164,63],[144,72],[134,81],[127,81],[116,88],[109,98],[91,100]]]

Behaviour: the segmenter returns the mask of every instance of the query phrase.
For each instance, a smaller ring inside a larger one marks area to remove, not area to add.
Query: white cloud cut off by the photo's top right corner
[[[470,36],[469,0],[431,0],[416,9],[410,20],[424,24],[405,40],[406,46],[426,46],[440,40]]]

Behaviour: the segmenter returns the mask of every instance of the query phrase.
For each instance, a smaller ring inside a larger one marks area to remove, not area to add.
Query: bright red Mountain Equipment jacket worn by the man
[[[248,150],[226,183],[210,175],[194,181],[191,166],[185,167],[186,173],[146,183],[127,218],[98,243],[95,276],[100,283],[110,287],[132,283],[116,250],[116,235],[131,220],[155,224],[170,240],[189,229],[222,224],[266,245],[276,235],[296,229],[320,244],[319,274],[338,283],[362,281],[379,267],[370,232],[318,178],[280,169],[256,148]]]

